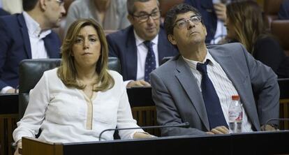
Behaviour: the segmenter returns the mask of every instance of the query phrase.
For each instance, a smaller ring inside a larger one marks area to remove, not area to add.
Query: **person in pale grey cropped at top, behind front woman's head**
[[[127,15],[126,0],[74,1],[68,9],[65,31],[80,18],[92,18],[105,30],[124,29],[129,26]]]

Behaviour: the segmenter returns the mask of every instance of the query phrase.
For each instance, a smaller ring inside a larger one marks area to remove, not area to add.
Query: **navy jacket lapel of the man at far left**
[[[17,20],[18,20],[20,27],[21,27],[20,31],[22,34],[22,40],[24,41],[24,49],[25,49],[25,52],[27,54],[27,58],[32,59],[30,39],[29,39],[28,29],[27,29],[23,14],[18,15]]]

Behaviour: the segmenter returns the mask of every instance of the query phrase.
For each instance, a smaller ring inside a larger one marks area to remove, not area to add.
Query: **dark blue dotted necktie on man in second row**
[[[154,50],[152,48],[151,41],[144,41],[144,45],[147,46],[147,58],[144,65],[144,81],[149,82],[149,73],[156,69],[156,57],[154,56]]]

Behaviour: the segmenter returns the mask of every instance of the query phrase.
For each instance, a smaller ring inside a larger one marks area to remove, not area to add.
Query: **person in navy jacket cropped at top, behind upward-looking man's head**
[[[230,3],[230,0],[186,0],[184,3],[200,10],[207,28],[206,43],[222,43],[227,35],[227,31],[224,27],[226,19],[225,5]]]

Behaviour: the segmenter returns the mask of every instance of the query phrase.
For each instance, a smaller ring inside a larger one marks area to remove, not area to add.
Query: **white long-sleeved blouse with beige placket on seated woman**
[[[57,76],[57,68],[45,71],[31,89],[24,117],[13,132],[15,142],[23,136],[48,142],[98,141],[101,131],[108,128],[138,127],[131,114],[126,87],[121,75],[108,71],[115,84],[108,91],[98,91],[92,98],[76,88],[68,88]],[[131,139],[138,130],[119,131],[121,139]],[[114,131],[106,131],[102,140],[113,140]]]

